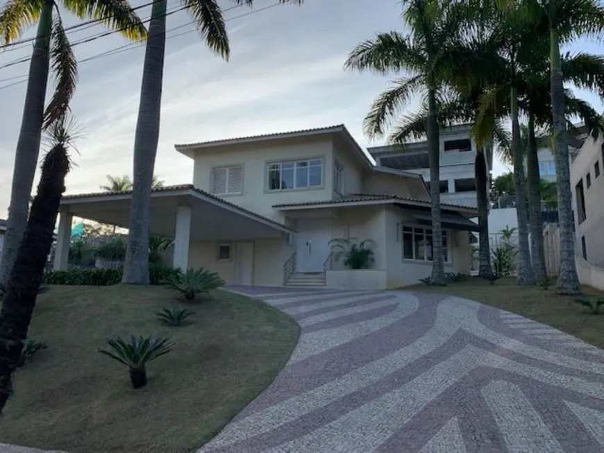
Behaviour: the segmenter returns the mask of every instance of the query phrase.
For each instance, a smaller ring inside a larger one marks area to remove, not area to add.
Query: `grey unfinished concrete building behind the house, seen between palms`
[[[471,124],[451,126],[440,131],[440,193],[442,203],[476,207],[476,178],[474,160],[476,142],[471,135]],[[410,171],[430,181],[428,142],[410,142],[401,145],[369,148],[378,166]],[[487,175],[492,155],[487,156]],[[488,187],[488,185],[487,185]]]

